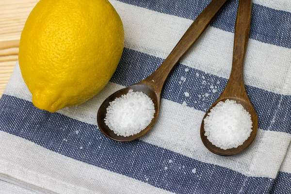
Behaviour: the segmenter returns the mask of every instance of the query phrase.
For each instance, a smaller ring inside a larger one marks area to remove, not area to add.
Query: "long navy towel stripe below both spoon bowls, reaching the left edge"
[[[3,95],[0,99],[0,126],[0,130],[51,151],[174,193],[267,194],[266,188],[274,181],[246,177],[139,140],[116,142],[105,137],[95,125],[37,109],[17,97]]]

